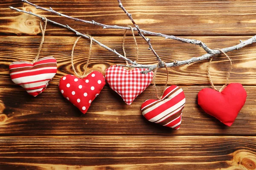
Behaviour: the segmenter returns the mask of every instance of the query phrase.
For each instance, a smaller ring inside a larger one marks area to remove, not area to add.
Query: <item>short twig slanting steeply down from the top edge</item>
[[[121,0],[117,0],[118,3],[119,3],[119,7],[125,12],[125,14],[129,17],[129,19],[131,20],[131,22],[134,24],[135,28],[137,28],[137,31],[138,31],[138,34],[140,35],[140,37],[142,37],[147,43],[148,43],[148,46],[149,46],[149,50],[151,50],[153,52],[153,54],[157,57],[157,61],[159,62],[160,66],[163,67],[164,66],[164,63],[162,62],[162,60],[160,59],[160,57],[157,55],[157,52],[154,51],[154,48],[152,47],[151,45],[151,42],[150,42],[150,39],[149,38],[146,38],[143,33],[140,31],[140,28],[139,26],[135,23],[135,21],[133,20],[133,18],[131,17],[131,14],[128,13],[128,11],[126,11],[125,7],[122,6],[122,2]]]

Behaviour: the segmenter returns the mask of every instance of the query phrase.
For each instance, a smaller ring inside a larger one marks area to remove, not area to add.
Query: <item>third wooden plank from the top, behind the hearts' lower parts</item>
[[[245,86],[247,101],[231,127],[205,113],[197,94],[205,86],[180,86],[186,105],[179,130],[148,122],[141,114],[146,99],[156,99],[149,86],[129,106],[106,85],[83,115],[51,86],[36,98],[22,88],[0,88],[2,135],[255,135],[256,86]],[[220,88],[220,86],[218,86]],[[159,87],[159,91],[163,86]]]

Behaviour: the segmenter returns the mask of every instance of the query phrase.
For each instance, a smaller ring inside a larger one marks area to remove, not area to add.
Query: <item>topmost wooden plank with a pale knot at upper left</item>
[[[108,25],[126,26],[131,21],[118,7],[117,0],[31,0],[39,6],[85,20],[95,20]],[[256,2],[248,0],[125,0],[123,5],[133,15],[135,22],[148,31],[174,35],[255,35]],[[12,11],[8,6],[22,8],[51,20],[68,24],[78,31],[92,35],[121,35],[122,30],[102,29],[21,3],[20,0],[2,0],[0,4],[0,34],[30,34],[40,32],[38,19]],[[47,34],[73,34],[49,24]]]

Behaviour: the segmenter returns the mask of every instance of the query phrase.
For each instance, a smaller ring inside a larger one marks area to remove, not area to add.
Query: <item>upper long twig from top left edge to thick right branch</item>
[[[57,14],[57,15],[62,16],[62,17],[70,18],[70,19],[75,20],[75,21],[80,21],[80,22],[83,22],[83,23],[89,23],[89,24],[93,24],[93,25],[96,25],[96,26],[101,26],[103,29],[105,29],[105,28],[126,29],[126,30],[130,30],[131,29],[130,27],[123,27],[123,26],[116,26],[116,25],[115,26],[105,25],[105,24],[102,24],[102,23],[98,23],[98,22],[96,22],[94,20],[92,20],[92,21],[81,20],[81,19],[76,18],[76,17],[71,17],[71,16],[68,16],[68,15],[65,15],[65,14],[61,14],[60,12],[57,12],[57,11],[53,10],[51,7],[50,7],[50,9],[47,9],[47,8],[43,8],[41,6],[37,6],[37,5],[27,1],[27,0],[21,0],[21,1],[24,2],[24,3],[27,3],[29,5],[35,6],[35,8],[37,8],[37,9],[41,9],[41,10],[44,10],[44,11],[52,12],[53,14]],[[137,28],[132,28],[132,29],[134,31],[137,31]],[[207,45],[204,42],[199,41],[199,40],[180,38],[180,37],[176,37],[176,36],[173,36],[173,35],[166,35],[166,34],[146,31],[146,30],[143,30],[143,29],[140,29],[140,31],[143,34],[149,34],[149,35],[164,37],[166,39],[178,40],[178,41],[181,41],[181,42],[186,42],[186,43],[191,43],[191,44],[194,44],[194,45],[199,45],[207,53],[209,53],[209,54],[213,54],[214,53],[214,50],[212,50],[211,48],[207,47]]]

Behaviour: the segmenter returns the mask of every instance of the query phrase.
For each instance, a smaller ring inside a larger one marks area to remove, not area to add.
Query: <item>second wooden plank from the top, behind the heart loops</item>
[[[247,40],[249,36],[239,37],[190,37],[203,40],[210,48],[224,48],[236,45],[239,40]],[[105,45],[116,49],[122,54],[122,37],[96,37]],[[41,57],[53,56],[57,59],[58,73],[50,82],[51,85],[58,85],[59,79],[66,74],[73,74],[71,70],[70,55],[76,37],[45,37],[45,42],[41,50]],[[18,59],[32,61],[38,51],[41,37],[26,36],[1,36],[0,37],[0,83],[1,85],[14,85],[9,76],[9,65]],[[137,37],[139,44],[139,63],[156,64],[156,58],[149,51],[148,45],[142,38]],[[165,62],[174,60],[184,60],[191,57],[199,57],[205,51],[198,46],[176,42],[174,40],[164,40],[161,37],[152,37],[151,43],[158,55]],[[89,41],[81,39],[74,52],[74,63],[78,71],[82,72],[88,57]],[[230,82],[240,82],[243,85],[256,85],[256,44],[248,45],[240,50],[228,53],[233,60],[233,71]],[[135,60],[135,45],[132,37],[126,40],[127,57]],[[179,67],[169,68],[169,85],[208,85],[207,66],[209,61],[191,63]],[[125,61],[118,58],[105,48],[93,44],[90,57],[89,69],[100,71],[105,74],[105,69],[110,65],[125,64]],[[211,65],[211,75],[216,85],[225,83],[229,62],[224,55],[216,56]],[[156,83],[165,84],[166,71],[159,69]]]

